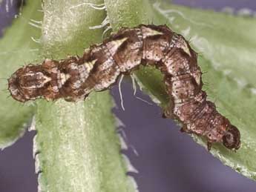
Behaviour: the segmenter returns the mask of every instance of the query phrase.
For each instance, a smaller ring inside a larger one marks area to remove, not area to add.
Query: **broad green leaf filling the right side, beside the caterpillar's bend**
[[[207,72],[203,75],[203,81],[209,82],[205,89],[220,113],[228,116],[241,132],[242,146],[237,153],[220,145],[212,153],[226,165],[256,179],[256,20],[186,7],[155,7],[166,19],[171,16],[163,13],[165,9],[182,13],[174,14],[171,25],[203,52],[199,64]],[[190,30],[186,32],[188,24]]]

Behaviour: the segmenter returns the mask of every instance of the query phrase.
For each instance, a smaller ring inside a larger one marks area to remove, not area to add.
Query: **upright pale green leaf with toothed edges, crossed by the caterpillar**
[[[85,47],[102,41],[102,29],[89,27],[105,19],[104,10],[78,0],[43,3],[46,57],[81,55]],[[39,191],[135,191],[120,153],[108,91],[92,93],[85,102],[37,104],[34,152]]]

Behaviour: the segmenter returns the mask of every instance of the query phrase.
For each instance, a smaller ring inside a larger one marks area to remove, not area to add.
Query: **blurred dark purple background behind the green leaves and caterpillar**
[[[235,9],[247,7],[256,10],[255,0],[175,0],[173,2],[215,10],[221,10],[223,7]],[[18,4],[20,3],[13,1],[13,6],[9,7],[10,12],[6,13],[5,0],[3,1],[0,7],[0,29],[10,24]],[[133,91],[131,84],[122,83],[125,111],[120,107],[118,88],[114,87],[112,93],[119,107],[115,108],[114,112],[125,125],[123,129],[128,145],[133,145],[140,154],[136,156],[131,148],[125,152],[134,167],[140,171],[138,174],[130,173],[137,180],[140,192],[256,191],[256,182],[222,165],[206,149],[193,142],[190,136],[180,133],[174,122],[170,119],[162,119],[160,107],[153,102],[153,105],[142,102],[133,95]],[[148,96],[140,92],[137,92],[137,96],[151,101]],[[15,145],[0,152],[1,192],[37,191],[32,157],[33,135],[34,133],[25,133]]]

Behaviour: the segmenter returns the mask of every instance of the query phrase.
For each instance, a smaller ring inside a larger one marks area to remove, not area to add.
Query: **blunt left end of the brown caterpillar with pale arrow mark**
[[[42,65],[27,65],[19,68],[8,79],[8,90],[13,99],[26,102],[39,98],[50,84],[50,76]]]

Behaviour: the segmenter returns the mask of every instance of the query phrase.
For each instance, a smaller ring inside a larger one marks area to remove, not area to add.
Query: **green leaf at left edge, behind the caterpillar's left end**
[[[22,16],[14,19],[12,26],[7,28],[4,37],[0,39],[0,148],[6,148],[19,139],[33,116],[33,105],[22,105],[9,97],[7,78],[23,64],[40,58],[40,44],[33,42],[31,37],[39,38],[41,30],[33,27],[33,21],[30,21],[42,19],[42,13],[38,11],[40,5],[39,1],[27,1]]]

